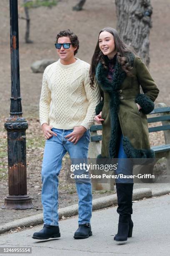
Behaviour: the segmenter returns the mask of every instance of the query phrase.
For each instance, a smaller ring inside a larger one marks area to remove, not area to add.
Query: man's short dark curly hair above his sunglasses
[[[57,34],[56,36],[56,43],[58,41],[59,37],[63,37],[63,36],[67,36],[70,38],[70,41],[72,43],[72,46],[75,47],[77,46],[77,49],[74,52],[74,55],[77,53],[78,49],[79,49],[79,40],[78,37],[75,35],[75,33],[73,33],[70,29],[67,30],[62,30],[60,31],[60,33]]]

